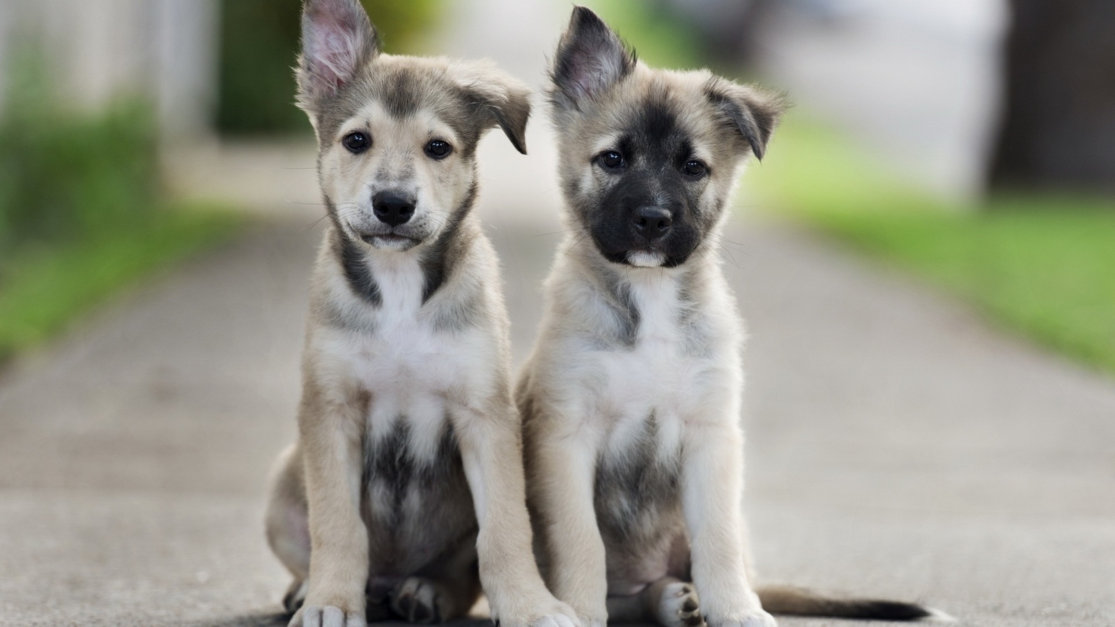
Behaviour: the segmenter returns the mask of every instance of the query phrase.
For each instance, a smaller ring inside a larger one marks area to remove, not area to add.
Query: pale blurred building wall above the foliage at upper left
[[[41,38],[68,105],[97,108],[119,94],[144,94],[157,105],[165,131],[209,134],[217,84],[217,2],[0,0],[0,68],[17,46]]]

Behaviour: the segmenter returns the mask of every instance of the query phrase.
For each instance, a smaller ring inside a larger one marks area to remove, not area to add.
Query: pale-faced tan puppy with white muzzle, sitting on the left
[[[508,322],[472,213],[476,144],[520,151],[529,89],[484,62],[380,54],[357,0],[308,0],[298,103],[329,225],[298,442],[266,514],[292,626],[464,615],[573,627],[532,553]]]

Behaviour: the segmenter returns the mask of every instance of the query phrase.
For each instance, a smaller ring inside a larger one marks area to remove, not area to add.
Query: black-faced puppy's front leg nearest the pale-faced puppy
[[[595,448],[576,434],[547,433],[532,425],[531,503],[540,517],[540,534],[554,595],[573,606],[584,627],[608,621],[608,570],[594,504]]]

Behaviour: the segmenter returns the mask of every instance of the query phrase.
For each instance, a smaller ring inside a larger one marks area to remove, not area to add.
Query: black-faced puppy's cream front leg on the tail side
[[[744,561],[743,433],[734,421],[696,422],[685,438],[681,498],[701,611],[709,627],[774,627]]]

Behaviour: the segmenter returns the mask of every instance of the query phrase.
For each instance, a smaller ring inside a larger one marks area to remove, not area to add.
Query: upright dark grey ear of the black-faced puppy
[[[580,108],[634,69],[634,52],[597,13],[574,7],[550,68],[551,99],[562,109]]]

